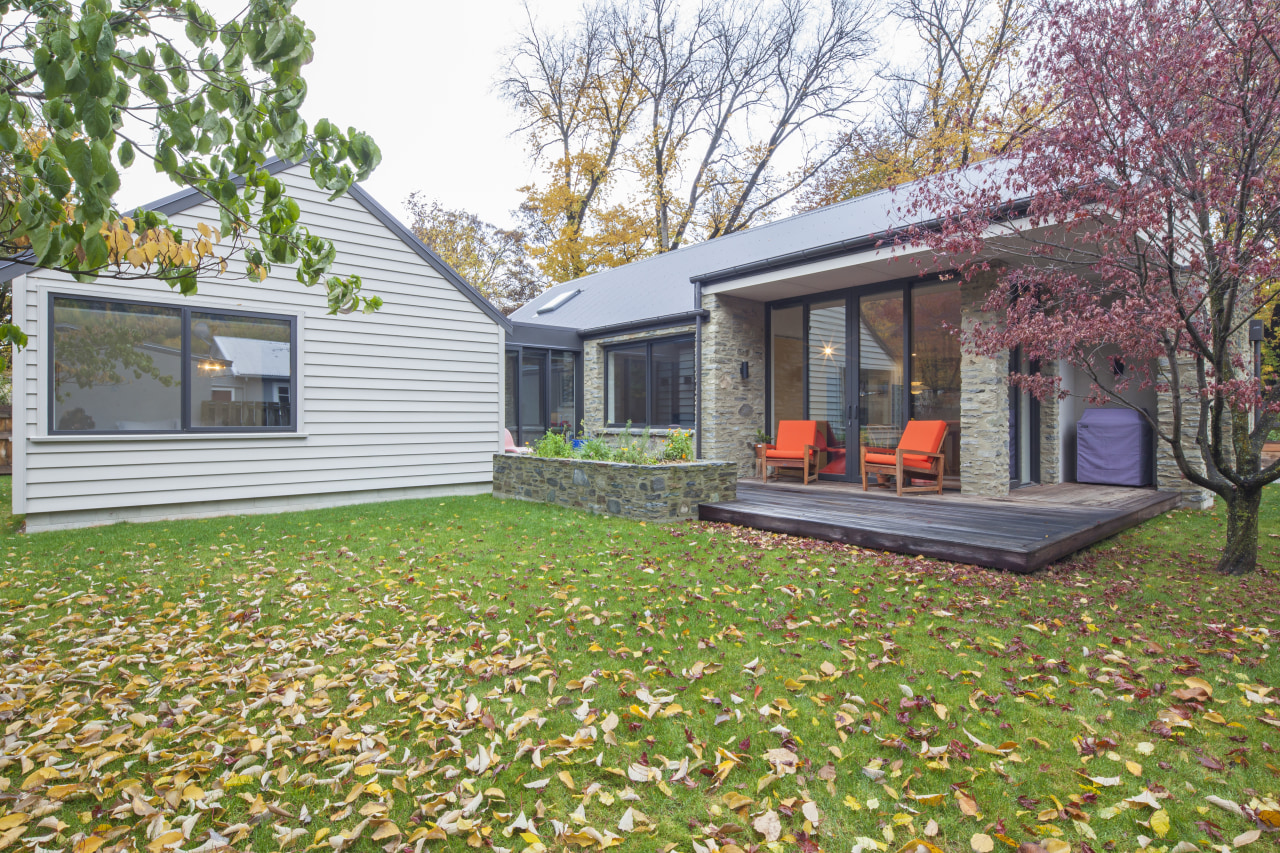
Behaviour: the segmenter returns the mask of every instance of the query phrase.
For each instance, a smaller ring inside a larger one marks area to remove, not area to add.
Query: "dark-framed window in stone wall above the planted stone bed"
[[[663,338],[604,351],[611,426],[691,428],[696,403],[694,339]]]

